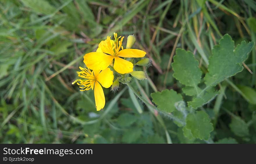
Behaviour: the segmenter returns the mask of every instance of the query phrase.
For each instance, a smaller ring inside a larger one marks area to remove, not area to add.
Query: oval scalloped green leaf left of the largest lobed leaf
[[[186,86],[196,87],[201,80],[202,72],[193,53],[177,48],[173,60],[173,77]]]

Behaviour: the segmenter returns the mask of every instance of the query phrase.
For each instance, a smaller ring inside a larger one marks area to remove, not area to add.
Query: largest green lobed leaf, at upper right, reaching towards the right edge
[[[226,78],[243,70],[241,65],[252,50],[254,42],[241,42],[234,51],[234,41],[230,35],[225,34],[219,45],[214,46],[212,56],[209,58],[208,73],[205,75],[205,84],[215,86]]]

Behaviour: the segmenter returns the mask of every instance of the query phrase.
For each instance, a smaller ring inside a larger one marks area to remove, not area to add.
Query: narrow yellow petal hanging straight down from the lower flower
[[[105,96],[104,96],[103,89],[98,82],[95,82],[94,98],[95,98],[96,110],[99,111],[100,109],[104,108]]]

